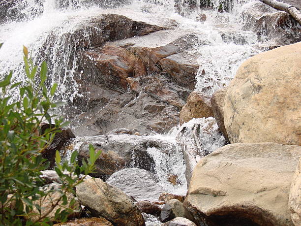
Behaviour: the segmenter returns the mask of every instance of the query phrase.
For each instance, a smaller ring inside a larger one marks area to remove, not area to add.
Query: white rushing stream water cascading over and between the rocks
[[[212,0],[211,7],[200,7],[200,2],[203,1],[19,1],[11,8],[15,16],[6,18],[5,22],[0,23],[0,42],[4,43],[0,50],[0,75],[13,70],[16,80],[24,79],[22,49],[23,45],[27,46],[33,62],[40,64],[45,60],[48,63],[50,70],[47,82],[49,86],[54,82],[59,84],[57,99],[66,101],[67,105],[72,105],[76,98],[83,97],[83,93],[79,92],[81,85],[75,77],[78,72],[78,62],[81,61],[81,55],[77,54],[77,51],[86,47],[81,45],[82,41],[79,37],[69,34],[87,26],[93,18],[102,14],[120,14],[158,26],[160,23],[164,26],[173,23],[175,27],[173,32],[169,34],[169,30],[166,30],[166,35],[160,40],[155,40],[157,37],[154,37],[153,40],[148,41],[149,43],[152,41],[169,43],[175,33],[183,34],[186,40],[183,41],[185,45],[180,46],[180,49],[185,56],[193,56],[194,64],[198,65],[195,90],[207,95],[212,95],[214,91],[228,85],[242,62],[282,44],[279,44],[275,38],[281,38],[281,35],[284,35],[283,32],[271,33],[269,27],[264,32],[256,31],[258,29],[256,24],[252,24],[250,17],[246,16],[246,12],[254,10],[253,6],[259,4],[259,1]],[[248,11],[249,8],[252,10]],[[291,35],[292,40],[287,39],[288,43],[284,44],[289,44],[294,42],[293,37],[296,37],[296,34],[292,34],[288,27],[297,26],[300,29],[300,25],[286,24],[285,26],[283,31],[287,31],[285,34]],[[83,31],[81,37],[86,37],[86,42],[91,43],[91,31],[89,29]],[[18,94],[15,94],[16,98],[17,96]],[[105,108],[105,106],[102,107]],[[73,129],[81,126],[81,121],[75,119],[84,111],[79,111],[72,117],[66,115],[66,118],[72,121]],[[187,191],[185,161],[181,152],[179,134],[183,128],[186,128],[181,136],[190,139],[189,135],[195,124],[201,124],[199,136],[206,154],[225,145],[225,139],[218,131],[213,118],[193,119],[182,126],[176,125],[168,129],[168,132],[153,131],[152,134],[143,136],[166,141],[175,147],[175,150],[168,153],[161,152],[155,147],[146,149],[154,160],[154,174],[158,179],[158,184],[166,192],[184,195]],[[76,144],[75,148],[72,150],[80,147],[81,142],[86,139],[85,136],[89,134],[77,136],[73,141]],[[68,153],[66,158],[68,158]],[[198,158],[202,158],[202,155]],[[167,174],[177,175],[180,182],[173,186],[168,182]],[[156,219],[150,218],[147,225],[160,224]]]

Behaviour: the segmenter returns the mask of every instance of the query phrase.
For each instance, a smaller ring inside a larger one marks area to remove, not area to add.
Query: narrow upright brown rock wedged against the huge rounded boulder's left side
[[[216,124],[220,129],[220,131],[222,132],[222,134],[224,135],[227,142],[229,143],[230,141],[224,123],[224,100],[225,100],[227,90],[228,90],[227,87],[223,87],[215,91],[211,97],[211,106],[212,106],[212,112]]]

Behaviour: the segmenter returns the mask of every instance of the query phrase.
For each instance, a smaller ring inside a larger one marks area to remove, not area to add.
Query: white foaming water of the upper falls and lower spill
[[[27,46],[33,61],[40,64],[46,60],[49,71],[49,85],[59,83],[58,99],[72,102],[78,95],[78,85],[74,81],[77,58],[76,50],[81,48],[79,39],[68,35],[85,26],[91,18],[101,13],[119,13],[128,15],[145,15],[148,18],[168,18],[176,21],[179,30],[193,34],[188,40],[191,54],[197,54],[199,70],[196,75],[196,90],[212,94],[234,77],[239,65],[251,56],[264,50],[261,41],[254,32],[243,31],[246,24],[241,16],[245,7],[244,0],[212,0],[210,8],[200,9],[202,1],[197,0],[24,0],[18,1],[14,8],[16,16],[0,24],[0,75],[9,70],[14,71],[15,79],[23,80],[23,45]],[[247,5],[256,3],[248,1]],[[120,8],[118,8],[120,7]],[[200,21],[206,15],[206,21]],[[203,16],[204,17],[204,16]],[[89,30],[81,34],[89,42]],[[262,40],[262,39],[261,39]],[[179,130],[178,130],[179,129]],[[176,143],[176,135],[181,128],[174,128],[169,135],[160,136]],[[201,129],[200,133],[204,133]],[[210,142],[211,151],[224,145]],[[215,139],[215,138],[214,138]],[[157,177],[161,185],[169,192],[184,194],[186,180],[181,149],[173,155],[166,155],[150,148]],[[166,183],[166,173],[178,175],[181,186],[171,187]]]

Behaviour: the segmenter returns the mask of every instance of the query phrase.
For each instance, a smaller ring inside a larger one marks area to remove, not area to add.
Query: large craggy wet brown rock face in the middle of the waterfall
[[[136,23],[139,30],[141,22]],[[117,128],[140,134],[166,132],[179,124],[179,112],[195,88],[197,56],[188,54],[189,34],[176,31],[173,22],[147,25],[134,38],[95,40],[90,49],[78,53],[75,80],[83,97],[74,99],[70,112],[85,113],[76,118],[83,125],[75,130],[77,135],[105,134]],[[162,38],[168,42],[162,43]]]

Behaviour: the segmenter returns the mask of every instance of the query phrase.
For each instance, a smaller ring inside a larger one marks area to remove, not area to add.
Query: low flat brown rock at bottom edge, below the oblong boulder
[[[55,224],[54,226],[113,226],[111,222],[104,218],[81,218],[72,221],[67,221],[65,223]]]

